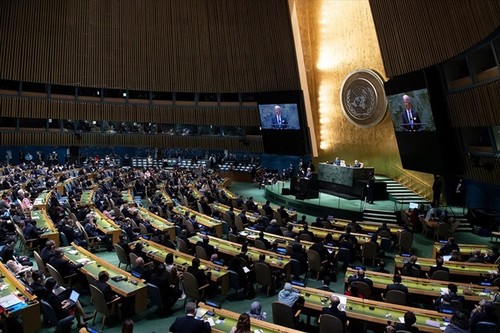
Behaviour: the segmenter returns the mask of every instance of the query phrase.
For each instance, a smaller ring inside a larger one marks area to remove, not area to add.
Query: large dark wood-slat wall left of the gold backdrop
[[[0,78],[131,90],[299,90],[286,0],[2,0]]]

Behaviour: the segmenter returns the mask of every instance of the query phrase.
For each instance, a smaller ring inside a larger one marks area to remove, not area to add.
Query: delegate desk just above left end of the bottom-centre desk
[[[174,255],[174,264],[177,268],[177,271],[179,272],[183,272],[189,266],[191,266],[191,262],[194,259],[194,257],[189,254],[179,252],[177,250],[165,247],[147,239],[141,239],[139,241],[130,243],[131,248],[134,248],[137,242],[142,243],[142,245],[144,246],[142,248],[142,251],[146,253],[148,257],[161,264],[165,262],[165,257],[167,256],[167,254],[172,253]],[[226,294],[229,290],[228,268],[225,266],[216,265],[208,260],[200,259],[200,261],[200,269],[209,270],[211,273],[210,279],[213,282],[220,284],[222,288],[221,293],[223,295]]]

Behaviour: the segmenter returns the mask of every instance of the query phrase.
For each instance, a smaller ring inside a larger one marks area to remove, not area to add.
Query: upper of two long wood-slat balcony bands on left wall
[[[259,126],[254,107],[146,106],[0,96],[0,116],[159,124]]]

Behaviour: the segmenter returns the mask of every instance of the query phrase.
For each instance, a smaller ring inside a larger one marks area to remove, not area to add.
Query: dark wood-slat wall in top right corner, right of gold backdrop
[[[500,26],[497,0],[370,0],[389,77],[464,52]]]

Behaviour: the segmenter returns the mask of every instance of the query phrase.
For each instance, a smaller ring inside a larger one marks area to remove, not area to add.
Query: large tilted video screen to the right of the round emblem
[[[436,130],[427,89],[389,95],[387,103],[396,132],[434,132]]]

